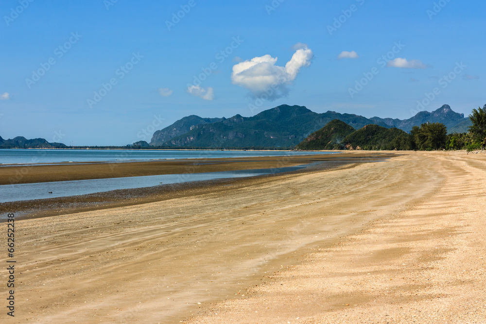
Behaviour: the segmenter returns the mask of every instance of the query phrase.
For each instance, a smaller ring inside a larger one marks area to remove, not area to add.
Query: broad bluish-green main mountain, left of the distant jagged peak
[[[190,129],[182,135],[174,136],[165,142],[156,132],[150,145],[179,146],[179,147],[295,147],[311,133],[322,128],[333,119],[340,119],[354,128],[375,123],[371,119],[353,114],[340,114],[328,111],[323,114],[315,113],[304,106],[281,105],[262,111],[253,117],[235,115],[229,119],[222,118],[215,122],[205,122],[206,119],[192,117],[198,124],[189,125],[184,120],[185,129]],[[203,121],[201,121],[203,120]],[[168,130],[177,129],[177,124],[164,128],[166,136]],[[384,123],[379,122],[383,126]],[[182,131],[181,131],[182,132]],[[181,133],[179,132],[179,133]]]

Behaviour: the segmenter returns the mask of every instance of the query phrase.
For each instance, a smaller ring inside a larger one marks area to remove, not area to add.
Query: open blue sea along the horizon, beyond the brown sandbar
[[[159,159],[189,159],[214,157],[252,157],[326,154],[323,152],[289,151],[149,151],[149,150],[46,150],[46,149],[2,149],[0,164],[32,164],[61,162],[123,162]]]

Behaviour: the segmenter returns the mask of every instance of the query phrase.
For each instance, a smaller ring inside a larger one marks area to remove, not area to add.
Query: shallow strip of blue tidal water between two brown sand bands
[[[295,171],[306,168],[307,165],[204,173],[162,174],[141,177],[92,179],[75,181],[41,182],[34,184],[17,184],[0,186],[0,203],[46,199],[67,196],[86,195],[117,189],[133,189],[159,186],[160,184],[174,184],[190,181],[205,181],[224,178],[243,178],[272,173]],[[50,193],[52,192],[52,193]]]

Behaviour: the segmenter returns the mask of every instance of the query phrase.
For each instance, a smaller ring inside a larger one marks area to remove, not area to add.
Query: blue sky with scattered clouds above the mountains
[[[468,115],[486,103],[485,12],[480,0],[1,0],[0,136],[125,145],[184,116],[284,103]]]

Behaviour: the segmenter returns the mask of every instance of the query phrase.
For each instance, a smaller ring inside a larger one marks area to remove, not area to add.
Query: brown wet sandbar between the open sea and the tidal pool
[[[335,152],[334,152],[335,153]],[[339,155],[339,156],[338,156]],[[373,155],[382,155],[374,153]],[[242,158],[208,158],[119,163],[60,163],[0,167],[0,185],[136,177],[158,174],[235,171],[292,167],[315,161],[368,157],[369,154],[317,154]]]

